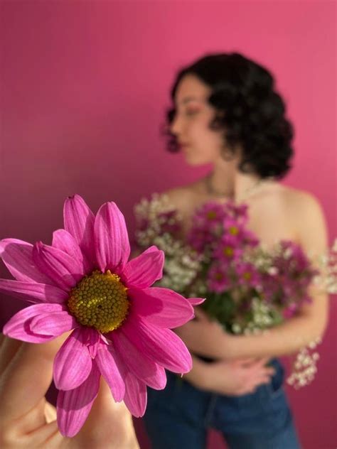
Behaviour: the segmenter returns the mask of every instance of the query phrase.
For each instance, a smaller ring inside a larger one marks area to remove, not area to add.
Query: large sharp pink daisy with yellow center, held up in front
[[[1,240],[1,258],[16,281],[0,279],[0,291],[33,303],[9,320],[4,334],[41,343],[73,330],[55,356],[53,378],[58,426],[74,436],[101,374],[114,400],[142,416],[146,385],[164,389],[165,368],[191,370],[191,355],[170,328],[191,320],[192,305],[203,300],[151,288],[162,276],[164,253],[150,247],[128,261],[127,227],[114,202],[95,216],[79,195],[68,198],[64,226],[53,233],[52,246]]]

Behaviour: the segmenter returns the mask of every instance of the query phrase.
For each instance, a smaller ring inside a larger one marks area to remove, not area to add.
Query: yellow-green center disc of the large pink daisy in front
[[[127,317],[127,287],[117,274],[95,270],[72,288],[68,308],[78,323],[102,333],[110,332],[119,328]]]

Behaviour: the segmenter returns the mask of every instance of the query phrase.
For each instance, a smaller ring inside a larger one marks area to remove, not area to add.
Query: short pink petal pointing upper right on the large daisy
[[[146,288],[163,277],[164,251],[152,246],[127,263],[122,278],[127,286]]]

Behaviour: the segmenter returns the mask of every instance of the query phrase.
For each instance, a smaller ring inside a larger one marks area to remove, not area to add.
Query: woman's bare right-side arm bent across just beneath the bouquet
[[[326,223],[319,203],[311,196],[301,198],[298,214],[299,242],[314,260],[327,247]],[[200,355],[235,359],[270,357],[296,352],[323,336],[328,317],[328,296],[311,286],[312,303],[304,305],[299,314],[282,325],[259,335],[228,335],[220,325],[194,321],[177,333],[186,345]]]

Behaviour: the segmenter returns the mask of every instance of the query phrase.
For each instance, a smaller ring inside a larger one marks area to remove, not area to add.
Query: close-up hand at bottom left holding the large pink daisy
[[[0,337],[1,449],[139,449],[132,416],[115,403],[105,381],[85,425],[74,438],[58,431],[53,406],[45,399],[53,359],[64,337],[33,345]]]

